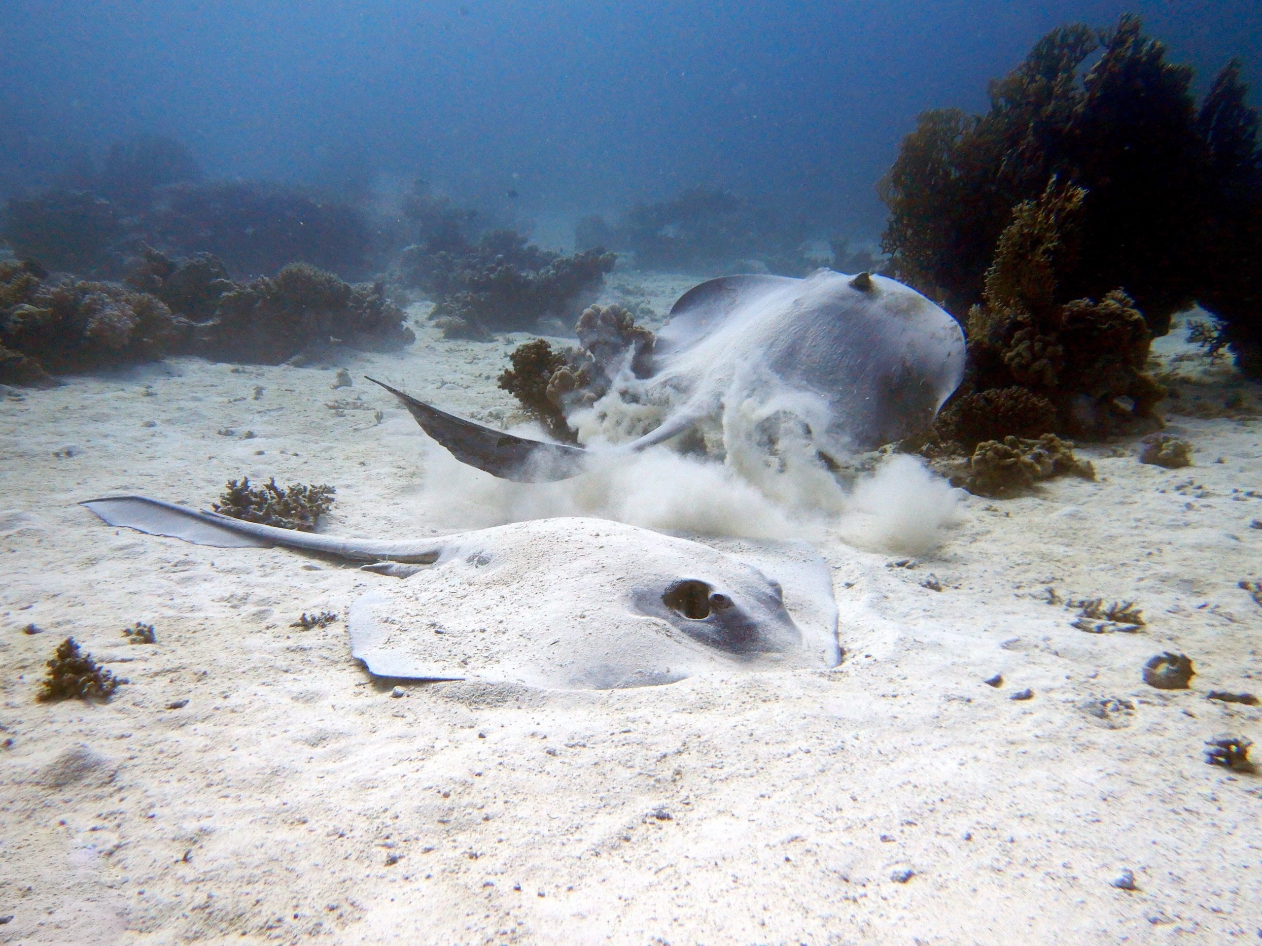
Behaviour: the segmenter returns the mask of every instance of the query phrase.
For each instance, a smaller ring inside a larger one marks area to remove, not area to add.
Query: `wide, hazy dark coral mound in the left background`
[[[305,262],[342,276],[369,272],[372,237],[362,213],[319,194],[246,182],[159,188],[141,213],[146,242],[188,256],[208,252],[237,276]]]

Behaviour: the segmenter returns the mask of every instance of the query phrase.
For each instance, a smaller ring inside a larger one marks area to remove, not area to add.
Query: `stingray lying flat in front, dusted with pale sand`
[[[347,613],[351,653],[375,676],[615,689],[840,660],[828,565],[803,546],[724,551],[597,518],[339,539],[140,496],[82,505],[111,526],[221,547],[280,545],[403,578]]]

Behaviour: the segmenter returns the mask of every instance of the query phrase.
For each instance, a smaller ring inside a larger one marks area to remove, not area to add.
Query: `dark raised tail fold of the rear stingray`
[[[583,472],[587,450],[579,447],[528,440],[485,428],[432,407],[376,378],[367,380],[403,401],[420,429],[447,448],[452,457],[492,477],[519,483],[546,483],[569,479]]]

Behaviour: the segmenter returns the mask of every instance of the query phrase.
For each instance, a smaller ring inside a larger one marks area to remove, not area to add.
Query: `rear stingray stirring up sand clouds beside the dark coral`
[[[758,380],[813,395],[827,420],[817,443],[871,449],[926,428],[964,376],[964,334],[946,312],[883,276],[819,270],[806,279],[723,276],[680,296],[658,333],[647,400],[673,404],[642,450],[751,396]],[[376,381],[375,378],[369,378]],[[427,434],[461,462],[520,482],[582,473],[589,452],[485,428],[398,391]]]

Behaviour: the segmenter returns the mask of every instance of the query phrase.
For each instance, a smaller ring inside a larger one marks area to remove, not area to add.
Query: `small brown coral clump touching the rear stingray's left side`
[[[500,387],[567,443],[575,440],[565,409],[594,404],[623,363],[636,377],[647,377],[656,341],[621,305],[589,305],[574,330],[578,348],[557,352],[543,338],[526,342],[514,349],[509,356],[512,367],[500,375]]]

